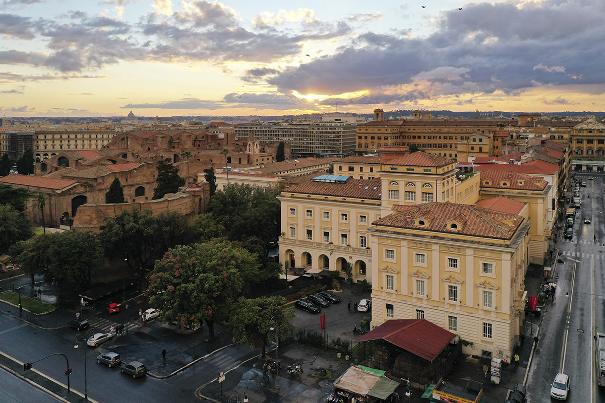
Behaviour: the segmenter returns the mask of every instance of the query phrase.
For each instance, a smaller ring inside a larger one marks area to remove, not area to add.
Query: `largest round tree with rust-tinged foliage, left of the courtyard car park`
[[[163,320],[177,321],[183,328],[206,321],[214,340],[215,320],[257,271],[256,256],[228,241],[179,245],[155,262],[149,277],[151,303],[162,310]]]

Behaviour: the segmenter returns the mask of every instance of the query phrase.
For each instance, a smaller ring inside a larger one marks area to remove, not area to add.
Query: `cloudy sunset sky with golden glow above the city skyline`
[[[605,1],[0,0],[0,117],[605,111]]]

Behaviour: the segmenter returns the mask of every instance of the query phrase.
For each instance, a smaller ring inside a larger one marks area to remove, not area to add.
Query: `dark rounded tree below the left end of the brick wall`
[[[90,274],[103,261],[99,240],[91,232],[67,231],[56,234],[48,250],[50,274],[59,286],[75,280],[82,289],[90,286]]]

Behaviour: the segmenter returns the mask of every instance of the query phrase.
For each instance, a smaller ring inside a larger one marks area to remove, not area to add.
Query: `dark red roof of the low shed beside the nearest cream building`
[[[426,319],[391,319],[357,341],[386,340],[414,355],[433,361],[455,334]]]

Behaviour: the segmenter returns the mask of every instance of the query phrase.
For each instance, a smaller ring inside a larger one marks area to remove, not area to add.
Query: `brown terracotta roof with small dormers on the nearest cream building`
[[[511,239],[523,222],[523,217],[515,214],[501,213],[466,204],[433,202],[411,206],[396,205],[393,206],[393,211],[395,211],[393,214],[374,221],[373,225]],[[416,225],[416,219],[424,219],[425,226]],[[454,220],[460,224],[457,230],[450,228],[451,221]]]

